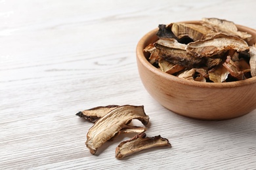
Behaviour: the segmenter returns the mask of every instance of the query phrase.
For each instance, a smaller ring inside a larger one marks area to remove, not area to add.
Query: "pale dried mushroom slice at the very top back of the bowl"
[[[216,32],[226,33],[228,35],[235,35],[241,39],[249,41],[252,37],[251,34],[238,31],[236,24],[227,20],[220,20],[218,18],[202,18],[203,25],[213,29]]]

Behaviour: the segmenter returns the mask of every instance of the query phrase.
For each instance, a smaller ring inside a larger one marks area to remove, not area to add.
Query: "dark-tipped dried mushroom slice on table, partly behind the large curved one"
[[[83,110],[81,112],[77,112],[76,116],[80,118],[85,118],[91,122],[96,122],[99,118],[110,112],[111,110],[116,109],[119,105],[108,105],[108,106],[100,106],[94,107],[91,109]]]

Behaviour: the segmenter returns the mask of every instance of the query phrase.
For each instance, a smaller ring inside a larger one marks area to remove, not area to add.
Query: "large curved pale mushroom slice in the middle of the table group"
[[[144,112],[143,106],[124,105],[102,116],[87,133],[85,144],[91,154],[95,154],[102,144],[114,137],[133,119],[140,120],[144,125],[148,124],[149,117]]]

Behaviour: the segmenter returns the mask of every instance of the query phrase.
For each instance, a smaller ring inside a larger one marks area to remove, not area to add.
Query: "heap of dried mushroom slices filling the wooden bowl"
[[[234,22],[203,18],[201,24],[159,25],[158,41],[149,44],[148,60],[161,71],[200,82],[232,82],[256,76],[252,35]]]

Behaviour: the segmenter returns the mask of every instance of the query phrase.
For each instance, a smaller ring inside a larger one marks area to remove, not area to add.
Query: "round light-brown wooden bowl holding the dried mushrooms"
[[[237,27],[253,35],[249,44],[256,42],[255,29]],[[256,109],[256,77],[236,82],[196,82],[163,73],[151,65],[147,60],[149,55],[143,49],[158,39],[157,31],[150,31],[137,44],[137,65],[144,87],[163,107],[201,120],[226,120]]]

